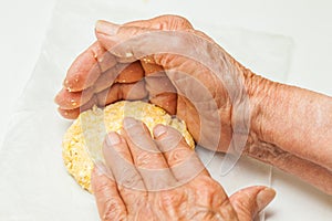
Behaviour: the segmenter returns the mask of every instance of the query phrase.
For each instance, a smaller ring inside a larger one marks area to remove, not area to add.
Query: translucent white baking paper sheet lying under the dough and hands
[[[56,113],[53,97],[71,62],[94,41],[96,20],[123,23],[164,13],[188,18],[255,72],[286,80],[292,44],[288,38],[217,25],[178,1],[60,0],[0,149],[0,220],[98,220],[93,196],[83,191],[63,166],[61,141],[71,122]],[[201,148],[197,152],[228,193],[250,185],[270,185],[269,166],[241,158],[230,173],[221,177],[224,155],[215,155],[210,161],[214,152]],[[263,220],[263,214],[259,219]]]

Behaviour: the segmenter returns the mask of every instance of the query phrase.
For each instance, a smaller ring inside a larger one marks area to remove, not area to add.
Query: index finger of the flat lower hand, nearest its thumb
[[[156,144],[164,154],[175,178],[187,182],[197,176],[208,176],[203,162],[187,145],[183,136],[174,128],[157,125],[154,128]]]

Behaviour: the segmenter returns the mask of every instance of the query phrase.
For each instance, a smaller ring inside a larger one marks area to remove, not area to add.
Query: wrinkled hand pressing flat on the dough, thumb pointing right
[[[142,122],[124,120],[122,136],[104,143],[92,189],[102,220],[251,220],[274,197],[249,187],[227,197],[172,127],[157,125],[154,138]],[[176,141],[180,140],[180,141]],[[174,144],[174,146],[172,146]]]

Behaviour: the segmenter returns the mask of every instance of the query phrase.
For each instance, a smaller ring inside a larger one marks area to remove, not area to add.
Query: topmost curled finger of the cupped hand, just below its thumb
[[[115,57],[95,42],[72,63],[63,85],[71,92],[80,92],[92,86],[102,72],[115,64]]]

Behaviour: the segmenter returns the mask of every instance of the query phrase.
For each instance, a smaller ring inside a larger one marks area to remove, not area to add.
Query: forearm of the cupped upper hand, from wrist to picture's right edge
[[[332,98],[248,74],[251,144],[246,152],[332,193]]]

